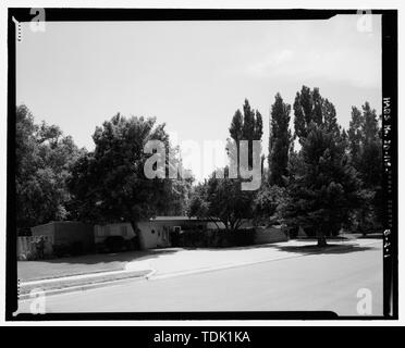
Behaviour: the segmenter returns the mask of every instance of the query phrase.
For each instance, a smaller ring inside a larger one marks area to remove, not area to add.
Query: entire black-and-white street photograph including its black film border
[[[8,16],[8,320],[397,318],[395,9]]]

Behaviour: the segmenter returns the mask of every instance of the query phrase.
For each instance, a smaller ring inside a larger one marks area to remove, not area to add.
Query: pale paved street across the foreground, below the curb
[[[381,240],[351,250],[296,256],[169,278],[137,279],[48,296],[47,312],[331,310],[358,315],[358,289],[382,314]],[[29,312],[30,300],[20,303]]]

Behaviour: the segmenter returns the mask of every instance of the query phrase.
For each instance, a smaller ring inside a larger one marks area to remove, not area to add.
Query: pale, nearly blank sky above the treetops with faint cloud
[[[303,85],[319,87],[344,127],[352,105],[368,100],[380,112],[380,16],[370,33],[357,21],[52,22],[45,33],[24,24],[17,103],[91,150],[96,125],[116,112],[156,116],[181,141],[225,140],[247,98],[263,116],[267,152],[277,92],[292,104]]]

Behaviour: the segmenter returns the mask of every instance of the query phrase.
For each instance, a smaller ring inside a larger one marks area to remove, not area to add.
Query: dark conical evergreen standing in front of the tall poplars
[[[324,126],[312,123],[289,171],[284,219],[291,226],[315,234],[318,245],[324,246],[326,237],[336,235],[365,198],[343,141]]]

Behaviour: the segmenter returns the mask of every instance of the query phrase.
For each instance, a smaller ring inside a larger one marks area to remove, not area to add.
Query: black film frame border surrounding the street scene
[[[386,221],[383,248],[383,315],[338,316],[333,312],[138,312],[138,313],[46,313],[19,314],[15,234],[15,48],[13,17],[29,22],[28,8],[8,9],[8,159],[7,159],[7,321],[54,320],[396,320],[398,318],[397,266],[397,10],[371,10],[382,14],[382,128]],[[246,10],[246,9],[71,9],[47,8],[47,22],[79,21],[274,21],[328,20],[336,14],[358,14],[357,10]],[[390,98],[386,108],[383,98]],[[384,110],[389,109],[388,114]],[[389,146],[388,146],[389,145]]]

